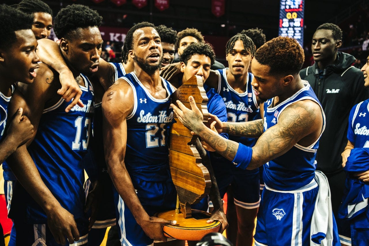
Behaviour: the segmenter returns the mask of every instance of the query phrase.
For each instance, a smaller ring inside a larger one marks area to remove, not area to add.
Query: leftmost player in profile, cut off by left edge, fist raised
[[[0,5],[0,24],[0,163],[3,163],[33,135],[33,126],[23,115],[23,109],[19,108],[9,117],[8,105],[17,81],[33,82],[39,58],[35,52],[37,41],[31,31],[31,16]],[[1,224],[0,233],[3,233]],[[5,245],[3,237],[0,245]]]

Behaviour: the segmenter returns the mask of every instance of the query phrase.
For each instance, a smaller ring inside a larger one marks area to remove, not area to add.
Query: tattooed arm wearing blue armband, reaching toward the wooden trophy
[[[219,134],[207,128],[202,123],[202,115],[192,96],[190,96],[189,101],[192,110],[187,109],[179,101],[177,103],[180,108],[173,104],[171,105],[178,119],[218,153],[232,161],[236,156],[238,143],[224,139]],[[247,129],[251,128],[256,133],[259,133],[261,131],[261,123],[261,120],[243,123],[242,130],[246,132]],[[228,123],[222,122],[222,124],[227,125]],[[310,145],[319,137],[322,125],[323,117],[321,116],[321,110],[317,103],[311,100],[302,100],[293,103],[283,110],[275,126],[270,127],[261,134],[255,146],[252,147],[252,159],[247,169],[255,169],[283,155],[296,143],[302,146]],[[222,127],[222,129],[224,130],[226,128]],[[237,128],[232,129],[235,133],[238,133],[238,130]],[[255,133],[253,134],[256,135]]]

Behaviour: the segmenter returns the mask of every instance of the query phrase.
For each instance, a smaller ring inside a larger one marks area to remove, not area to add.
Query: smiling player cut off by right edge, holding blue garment
[[[363,72],[365,78],[364,86],[365,88],[369,88],[369,57],[366,58],[366,63],[361,68],[361,71]],[[348,184],[352,184],[352,187],[354,187],[355,185],[359,185],[359,188],[361,188],[361,184],[363,184],[362,182],[369,181],[369,170],[364,165],[364,163],[367,163],[367,161],[364,160],[363,163],[359,163],[359,161],[362,160],[360,156],[361,152],[356,152],[360,151],[360,148],[369,147],[369,137],[366,130],[367,126],[369,126],[369,120],[367,117],[369,115],[368,104],[369,99],[360,102],[352,107],[349,115],[349,124],[347,130],[348,141],[344,152],[342,152],[342,167],[345,167],[347,158],[349,156],[351,157],[351,160],[354,159],[355,161],[357,161],[357,163],[352,163],[352,168],[350,168],[350,165],[344,168],[344,170],[348,172],[346,178],[346,190],[344,191],[345,195],[342,199],[343,202],[341,203],[338,211],[339,218],[345,219],[345,226],[342,226],[340,231],[340,239],[342,245],[357,246],[369,244],[369,231],[367,228],[367,225],[369,224],[369,219],[367,217],[368,212],[366,212],[368,211],[368,209],[366,208],[368,205],[359,205],[363,203],[365,204],[365,200],[368,200],[368,197],[367,195],[364,195],[365,193],[362,195],[362,192],[357,192],[357,190],[355,192],[355,189],[353,189],[353,191],[348,189]],[[364,186],[367,186],[367,184],[364,184]],[[356,206],[354,206],[354,204],[356,204]],[[352,210],[349,208],[350,206],[356,209]],[[359,210],[361,209],[364,209],[364,212],[359,212]],[[344,212],[346,212],[347,210],[352,211],[351,214],[344,214]]]

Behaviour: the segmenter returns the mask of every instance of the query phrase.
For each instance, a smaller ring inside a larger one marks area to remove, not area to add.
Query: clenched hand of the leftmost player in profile
[[[28,117],[23,115],[23,109],[20,107],[8,126],[7,137],[18,147],[30,140],[33,133],[33,125]]]

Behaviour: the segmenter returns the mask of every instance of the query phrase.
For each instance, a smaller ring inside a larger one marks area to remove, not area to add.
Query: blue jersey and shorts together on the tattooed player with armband
[[[320,106],[323,133],[323,109],[307,81],[304,84],[302,89],[277,106],[273,107],[273,99],[264,103],[264,131],[278,123],[286,107],[308,99]],[[308,147],[295,144],[285,154],[264,165],[265,189],[258,212],[255,245],[310,245],[310,226],[319,191],[314,179],[319,138]],[[338,240],[335,221],[332,226]]]

